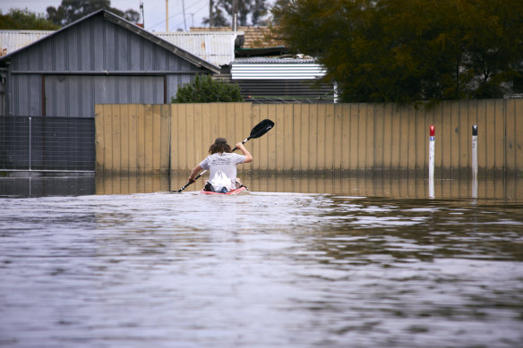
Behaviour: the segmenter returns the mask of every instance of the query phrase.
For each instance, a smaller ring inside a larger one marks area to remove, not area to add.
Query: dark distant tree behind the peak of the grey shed
[[[111,7],[110,0],[62,0],[62,4],[58,8],[47,7],[47,20],[65,26],[101,9],[107,9],[127,21],[137,22],[140,19],[140,13],[133,9],[122,12]]]

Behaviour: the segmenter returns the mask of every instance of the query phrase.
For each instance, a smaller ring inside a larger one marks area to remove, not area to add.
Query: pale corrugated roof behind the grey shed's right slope
[[[154,32],[159,38],[198,55],[215,65],[228,65],[235,60],[235,41],[242,31]]]

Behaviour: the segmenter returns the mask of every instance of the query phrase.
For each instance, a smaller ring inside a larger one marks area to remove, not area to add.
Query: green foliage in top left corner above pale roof
[[[0,12],[1,30],[57,30],[60,26],[47,21],[42,14],[25,10],[11,9],[8,13]]]

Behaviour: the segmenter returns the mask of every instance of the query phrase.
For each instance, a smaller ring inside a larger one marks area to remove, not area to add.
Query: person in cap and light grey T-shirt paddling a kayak
[[[243,155],[233,153],[225,138],[217,138],[210,145],[210,155],[191,171],[189,182],[194,182],[196,175],[205,169],[210,171],[210,180],[205,185],[205,191],[224,192],[240,188],[242,183],[236,178],[236,165],[253,162],[253,156],[242,142],[236,144],[236,149],[240,149]]]

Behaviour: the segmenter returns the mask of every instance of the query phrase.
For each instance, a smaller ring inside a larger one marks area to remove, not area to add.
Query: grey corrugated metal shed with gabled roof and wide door
[[[93,117],[95,104],[163,104],[219,67],[106,10],[0,57],[2,115]]]

